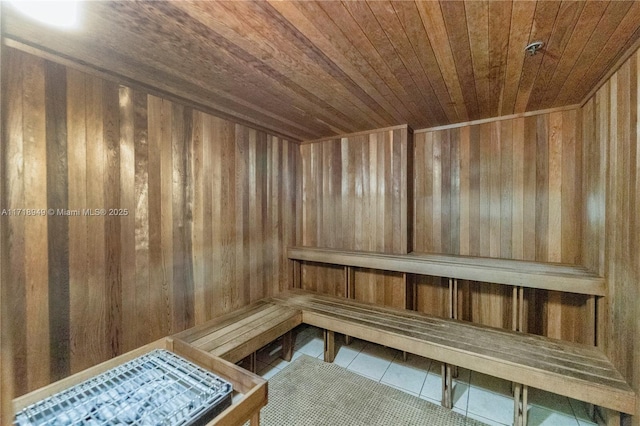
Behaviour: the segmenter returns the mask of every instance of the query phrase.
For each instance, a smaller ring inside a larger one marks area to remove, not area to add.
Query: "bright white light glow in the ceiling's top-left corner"
[[[73,28],[78,24],[78,0],[12,0],[10,3],[23,14],[48,25]]]

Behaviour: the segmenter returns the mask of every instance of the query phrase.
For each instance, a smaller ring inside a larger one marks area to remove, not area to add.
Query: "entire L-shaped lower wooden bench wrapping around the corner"
[[[595,347],[303,290],[258,301],[173,338],[235,363],[285,336],[283,358],[290,360],[291,330],[302,323],[324,330],[327,362],[335,357],[336,332],[442,362],[442,404],[449,408],[452,367],[459,366],[516,383],[516,425],[527,421],[528,386],[602,407],[609,424],[619,422],[618,412],[635,414],[634,391]]]

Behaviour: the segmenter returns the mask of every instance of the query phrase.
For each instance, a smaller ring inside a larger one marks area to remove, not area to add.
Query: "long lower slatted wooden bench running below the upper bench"
[[[601,407],[608,424],[635,414],[636,395],[597,348],[469,322],[433,317],[292,290],[273,299],[325,330],[325,361],[335,356],[334,332],[444,363],[443,405],[451,407],[451,366],[516,383],[514,424],[526,424],[527,387]],[[616,423],[617,421],[617,423]]]

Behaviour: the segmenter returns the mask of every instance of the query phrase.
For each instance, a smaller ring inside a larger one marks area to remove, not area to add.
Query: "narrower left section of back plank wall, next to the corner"
[[[407,177],[410,131],[372,131],[300,146],[301,244],[314,247],[407,253],[411,212]],[[410,179],[409,179],[410,181]],[[399,274],[357,269],[358,300],[405,307]],[[344,295],[343,268],[306,264],[302,287]]]

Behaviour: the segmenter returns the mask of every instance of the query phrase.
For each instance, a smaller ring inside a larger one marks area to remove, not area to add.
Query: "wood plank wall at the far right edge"
[[[601,271],[601,345],[640,391],[640,52],[582,108],[585,152],[583,257]],[[640,409],[640,398],[638,399]],[[640,416],[629,422],[640,425]]]

